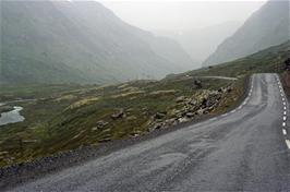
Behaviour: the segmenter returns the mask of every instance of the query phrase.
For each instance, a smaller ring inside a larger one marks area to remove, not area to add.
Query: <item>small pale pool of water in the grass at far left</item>
[[[2,112],[0,117],[0,125],[24,121],[25,118],[20,115],[22,109],[22,107],[15,106],[13,110]]]

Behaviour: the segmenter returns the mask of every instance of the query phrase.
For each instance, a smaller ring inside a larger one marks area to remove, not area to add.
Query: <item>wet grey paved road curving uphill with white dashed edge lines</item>
[[[249,97],[227,115],[12,191],[290,191],[288,104],[279,86],[276,74],[256,74]]]

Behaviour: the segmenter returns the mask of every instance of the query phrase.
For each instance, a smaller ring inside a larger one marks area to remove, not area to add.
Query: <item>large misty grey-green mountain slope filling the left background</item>
[[[1,1],[1,83],[112,83],[192,69],[173,40],[94,1]]]

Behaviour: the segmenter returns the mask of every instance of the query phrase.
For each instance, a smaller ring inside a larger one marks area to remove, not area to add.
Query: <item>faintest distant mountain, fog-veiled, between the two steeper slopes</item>
[[[155,33],[177,40],[191,56],[192,60],[196,60],[195,63],[201,63],[239,26],[241,26],[240,22],[226,22],[204,28],[181,32],[156,31]]]

